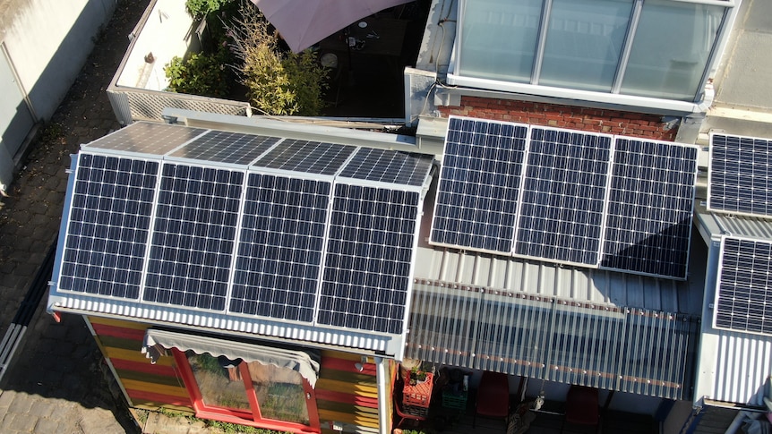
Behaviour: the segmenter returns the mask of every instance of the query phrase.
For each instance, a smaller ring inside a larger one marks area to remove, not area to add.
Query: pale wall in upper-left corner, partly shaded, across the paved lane
[[[54,114],[115,7],[116,0],[0,0],[0,43],[17,77],[19,103],[35,121]],[[12,128],[13,123],[7,127]],[[0,143],[0,148],[0,190],[5,190],[13,175],[9,149],[15,154],[20,146]]]

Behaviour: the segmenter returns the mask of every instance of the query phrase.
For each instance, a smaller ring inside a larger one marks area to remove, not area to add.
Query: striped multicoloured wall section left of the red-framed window
[[[142,354],[142,338],[148,325],[89,317],[97,344],[113,365],[126,399],[134,407],[148,410],[167,408],[193,413],[193,403],[172,357],[161,357],[156,364]]]

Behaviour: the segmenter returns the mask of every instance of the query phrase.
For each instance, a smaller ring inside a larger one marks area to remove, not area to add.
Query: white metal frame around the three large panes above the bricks
[[[473,2],[474,0],[459,0],[459,23],[464,20],[464,11],[466,10],[466,4]],[[544,86],[538,83],[539,76],[541,74],[541,67],[544,61],[546,36],[549,29],[549,20],[552,13],[553,0],[543,0],[542,11],[539,21],[539,29],[537,31],[538,39],[536,49],[534,53],[534,64],[531,70],[531,77],[528,83],[503,81],[495,79],[484,79],[476,77],[468,77],[458,74],[457,67],[462,60],[460,41],[463,40],[464,26],[459,25],[457,28],[457,35],[454,42],[454,47],[451,51],[450,66],[448,69],[447,83],[449,85],[476,88],[476,89],[490,89],[494,91],[505,91],[511,93],[521,93],[528,95],[535,95],[548,98],[568,98],[588,100],[603,104],[614,104],[624,106],[639,106],[647,109],[665,110],[673,113],[704,113],[707,111],[708,106],[712,103],[712,93],[706,92],[706,86],[708,80],[716,69],[717,60],[720,59],[722,52],[724,51],[726,42],[731,33],[732,23],[738,12],[740,2],[742,0],[667,0],[671,3],[687,3],[687,4],[705,4],[705,5],[717,5],[725,8],[724,14],[721,19],[721,23],[716,30],[716,38],[714,39],[710,48],[708,59],[706,61],[703,72],[700,76],[698,91],[695,93],[695,97],[691,101],[685,101],[680,99],[665,99],[654,97],[641,97],[636,95],[628,95],[620,93],[622,89],[622,81],[624,73],[627,70],[627,65],[630,61],[630,52],[632,50],[633,41],[635,39],[635,32],[638,30],[638,24],[643,11],[643,5],[646,0],[633,0],[632,8],[630,11],[630,21],[628,21],[628,27],[625,33],[625,38],[622,46],[622,53],[620,54],[619,63],[617,65],[616,72],[614,74],[612,88],[608,92],[596,91],[596,90],[584,90],[584,89],[570,89],[570,88],[558,88],[553,86]]]

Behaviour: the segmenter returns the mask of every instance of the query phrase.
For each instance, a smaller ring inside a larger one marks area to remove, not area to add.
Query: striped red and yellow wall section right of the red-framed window
[[[361,356],[322,351],[322,368],[316,382],[316,405],[322,433],[333,423],[343,432],[378,432],[378,387],[372,360],[356,369]],[[390,399],[389,396],[386,399]]]

